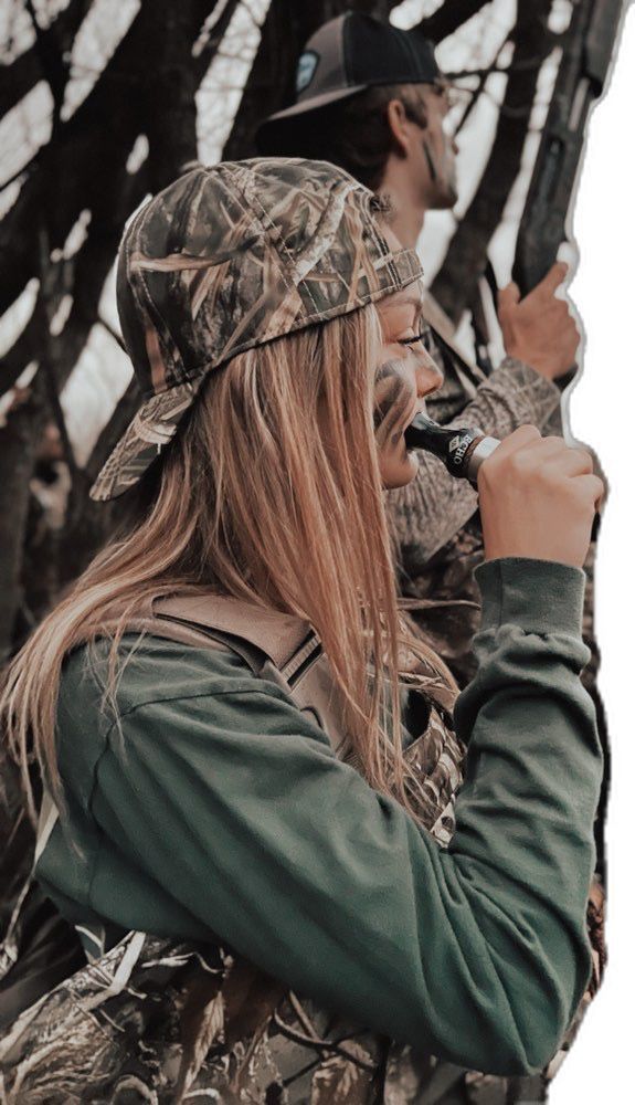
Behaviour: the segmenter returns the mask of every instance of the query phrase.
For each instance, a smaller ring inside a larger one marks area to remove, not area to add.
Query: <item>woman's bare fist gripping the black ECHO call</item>
[[[581,568],[604,494],[585,449],[521,425],[481,464],[485,557],[522,556]]]

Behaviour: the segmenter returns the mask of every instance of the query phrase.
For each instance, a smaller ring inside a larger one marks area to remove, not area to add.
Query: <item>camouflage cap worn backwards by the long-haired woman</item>
[[[177,432],[208,372],[422,276],[392,251],[373,197],[326,161],[197,168],[151,199],[119,251],[117,305],[141,406],[91,490],[131,487]]]

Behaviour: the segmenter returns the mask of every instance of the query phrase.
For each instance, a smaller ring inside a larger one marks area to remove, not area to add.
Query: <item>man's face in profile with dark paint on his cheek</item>
[[[428,210],[443,211],[454,207],[458,198],[457,147],[447,130],[448,93],[443,85],[432,84],[413,86],[412,92],[421,105],[414,112],[404,105],[413,128],[410,157],[413,182],[415,177],[421,182],[422,199]]]

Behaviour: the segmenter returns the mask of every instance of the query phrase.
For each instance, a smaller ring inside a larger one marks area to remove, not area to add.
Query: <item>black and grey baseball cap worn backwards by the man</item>
[[[413,28],[402,31],[362,12],[348,11],[324,23],[308,40],[297,67],[293,107],[269,115],[256,134],[262,152],[275,125],[377,84],[434,84],[442,73],[434,45]]]

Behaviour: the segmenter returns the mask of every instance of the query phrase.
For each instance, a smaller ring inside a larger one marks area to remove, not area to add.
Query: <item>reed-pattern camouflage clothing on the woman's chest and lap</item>
[[[428,678],[426,687],[425,729],[405,756],[421,821],[445,845],[464,748]],[[142,933],[45,994],[0,1040],[3,1105],[406,1105],[413,1084],[419,1093],[446,1065],[318,1009],[230,948]]]

